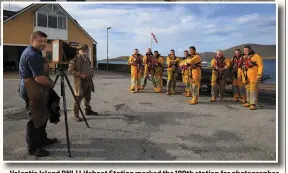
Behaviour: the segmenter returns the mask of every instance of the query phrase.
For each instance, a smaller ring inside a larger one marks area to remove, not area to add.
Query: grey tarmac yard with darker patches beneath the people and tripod
[[[18,83],[17,75],[4,74],[4,161],[276,160],[275,102],[260,100],[258,110],[250,111],[230,101],[229,94],[225,102],[210,103],[210,94],[203,91],[200,103],[193,106],[181,95],[180,82],[174,96],[153,93],[151,82],[143,93],[133,94],[129,74],[113,72],[96,73],[91,105],[100,116],[86,116],[90,128],[72,119],[73,97],[66,84],[72,158],[63,114],[59,124],[47,126],[48,137],[59,140],[46,148],[51,156],[35,158],[27,155],[27,115]],[[60,95],[59,86],[60,81],[55,86]]]

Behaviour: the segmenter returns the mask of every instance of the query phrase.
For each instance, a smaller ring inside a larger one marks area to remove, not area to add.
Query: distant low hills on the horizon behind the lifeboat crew
[[[234,46],[228,49],[223,50],[225,57],[232,57],[234,54],[234,49],[240,49],[243,51],[245,45],[250,45],[252,49],[259,53],[263,59],[276,59],[276,45],[260,45],[260,44],[242,44],[238,46]],[[216,52],[216,51],[215,51]],[[202,52],[200,53],[202,57],[207,61],[211,60],[215,56],[215,52]],[[166,59],[167,56],[162,56]],[[109,59],[109,61],[128,61],[129,56],[120,56],[117,58]],[[106,60],[101,60],[106,61]]]

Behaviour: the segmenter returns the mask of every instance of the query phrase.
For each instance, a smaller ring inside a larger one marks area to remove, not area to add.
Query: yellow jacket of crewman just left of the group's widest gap
[[[196,65],[198,64],[198,66],[201,66],[201,61],[202,61],[202,58],[201,56],[196,53],[195,55],[190,55],[191,58],[187,58],[185,60],[185,64],[187,64],[188,66],[191,66],[191,65]],[[197,80],[201,80],[201,77],[202,77],[202,71],[201,71],[201,68],[200,67],[197,67],[197,68],[188,68],[188,78],[193,81],[197,81]]]

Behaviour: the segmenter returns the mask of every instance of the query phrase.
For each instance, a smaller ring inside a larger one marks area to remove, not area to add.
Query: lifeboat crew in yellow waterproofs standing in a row
[[[185,84],[185,96],[192,97],[189,104],[196,105],[199,99],[199,89],[202,79],[201,56],[196,52],[194,46],[189,51],[184,51],[184,59],[175,55],[170,50],[167,56],[167,88],[166,95],[175,94],[177,69],[182,69],[182,82]],[[152,53],[148,48],[147,53],[142,56],[138,49],[134,49],[133,55],[129,57],[128,65],[131,66],[131,85],[133,93],[142,92],[145,89],[149,75],[151,76],[154,92],[161,93],[163,90],[162,75],[165,67],[164,59],[158,51]],[[233,93],[232,101],[240,101],[244,107],[250,110],[256,109],[258,98],[258,83],[263,74],[262,57],[255,53],[250,46],[245,46],[243,54],[240,49],[234,50],[234,56],[227,58],[221,50],[216,52],[211,61],[211,102],[215,102],[220,94],[220,101],[224,101],[225,95],[225,71],[232,68]]]

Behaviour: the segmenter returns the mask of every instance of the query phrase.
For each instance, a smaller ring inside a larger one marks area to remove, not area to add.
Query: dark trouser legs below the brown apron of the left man
[[[45,125],[42,127],[35,128],[32,120],[27,123],[26,141],[28,144],[28,150],[41,148],[41,146],[44,144],[47,139],[46,125],[47,123],[45,123]]]

